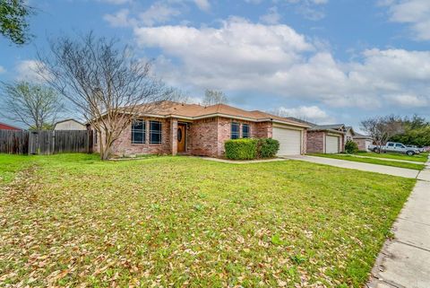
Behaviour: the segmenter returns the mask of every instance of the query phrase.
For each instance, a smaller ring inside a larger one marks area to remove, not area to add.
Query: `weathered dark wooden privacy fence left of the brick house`
[[[55,154],[92,153],[92,131],[0,130],[0,153]]]

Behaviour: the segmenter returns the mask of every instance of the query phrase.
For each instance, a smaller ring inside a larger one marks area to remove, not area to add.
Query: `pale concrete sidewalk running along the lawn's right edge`
[[[421,176],[420,176],[421,175]],[[401,210],[376,260],[371,288],[430,287],[430,162]]]

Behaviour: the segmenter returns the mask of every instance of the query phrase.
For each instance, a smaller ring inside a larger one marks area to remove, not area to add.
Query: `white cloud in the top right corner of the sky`
[[[384,0],[379,4],[388,6],[391,22],[409,24],[415,39],[430,40],[429,0]]]

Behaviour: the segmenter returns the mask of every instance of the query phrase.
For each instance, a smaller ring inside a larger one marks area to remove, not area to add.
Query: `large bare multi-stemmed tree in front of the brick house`
[[[145,104],[166,100],[172,92],[150,74],[150,62],[134,57],[128,46],[118,46],[116,39],[90,32],[78,39],[51,40],[50,53],[39,54],[39,74],[72,101],[99,135],[102,160],[138,113],[153,107]]]

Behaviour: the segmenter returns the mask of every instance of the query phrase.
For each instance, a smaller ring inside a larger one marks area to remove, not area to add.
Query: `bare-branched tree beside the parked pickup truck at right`
[[[403,131],[401,118],[392,115],[363,120],[361,121],[361,128],[372,137],[378,146],[379,153],[381,153],[381,147],[387,143],[391,136]]]

